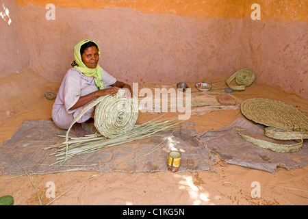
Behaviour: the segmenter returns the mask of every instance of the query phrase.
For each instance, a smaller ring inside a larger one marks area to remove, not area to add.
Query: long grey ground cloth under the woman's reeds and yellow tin
[[[94,127],[94,126],[92,126]],[[91,130],[89,127],[88,130]],[[93,130],[93,129],[92,129]],[[65,172],[75,170],[94,170],[107,172],[112,167],[140,157],[157,146],[172,131],[161,131],[155,135],[102,149],[86,155],[68,159],[62,166],[54,164],[55,149],[44,150],[47,146],[64,142],[64,138],[56,138],[66,134],[65,130],[55,127],[51,120],[25,120],[23,125],[0,146],[0,172],[3,175],[21,175],[24,170],[31,174]],[[112,171],[123,172],[155,172],[168,171],[168,153],[172,149],[181,151],[179,172],[213,170],[208,156],[209,151],[196,141],[194,124],[183,123],[166,141],[168,144],[150,155],[128,164],[118,166]],[[16,158],[15,158],[16,157]],[[19,164],[23,166],[19,166]]]

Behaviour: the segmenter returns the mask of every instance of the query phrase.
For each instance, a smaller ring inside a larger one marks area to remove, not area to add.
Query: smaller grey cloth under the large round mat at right
[[[207,149],[216,153],[227,164],[275,172],[277,166],[286,169],[301,168],[308,162],[308,142],[304,140],[303,148],[295,153],[278,153],[255,146],[238,135],[268,140],[279,144],[294,144],[294,140],[273,140],[264,136],[264,125],[253,123],[245,118],[236,119],[231,125],[216,131],[203,131],[198,138]]]

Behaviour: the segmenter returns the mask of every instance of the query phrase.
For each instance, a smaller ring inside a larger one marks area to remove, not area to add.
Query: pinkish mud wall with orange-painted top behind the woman
[[[0,47],[13,51],[6,56],[1,52],[0,77],[31,68],[60,82],[73,61],[75,44],[90,38],[101,47],[100,65],[128,83],[227,79],[240,68],[251,68],[255,83],[308,96],[307,1],[4,0],[3,4],[10,9],[12,23],[0,18],[0,28],[4,27]]]

